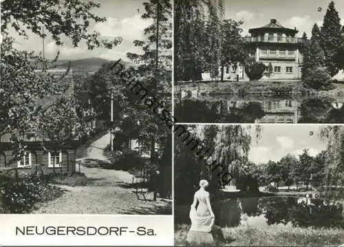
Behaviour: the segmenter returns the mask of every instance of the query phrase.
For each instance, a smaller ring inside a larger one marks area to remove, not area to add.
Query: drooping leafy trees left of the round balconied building
[[[224,19],[224,2],[174,2],[175,80],[200,80],[202,72],[224,79],[224,67],[248,58],[242,21]]]

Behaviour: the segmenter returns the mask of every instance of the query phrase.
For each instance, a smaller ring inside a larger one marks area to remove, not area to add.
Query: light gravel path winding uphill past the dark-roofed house
[[[81,162],[109,162],[103,149],[109,143],[109,133],[93,142],[87,157]],[[93,180],[88,186],[61,186],[65,193],[56,200],[45,202],[33,213],[80,213],[80,214],[171,214],[172,202],[158,199],[153,202],[153,193],[133,193],[133,175],[126,171],[81,166],[80,170]]]

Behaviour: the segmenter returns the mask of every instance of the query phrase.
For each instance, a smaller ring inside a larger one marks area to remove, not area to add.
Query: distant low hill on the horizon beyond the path
[[[111,63],[115,61],[111,61],[105,58],[83,58],[74,61],[70,61],[71,69],[73,69],[74,74],[87,74],[89,72],[96,72],[104,63]],[[56,62],[56,69],[63,69],[68,67],[69,61],[67,60],[59,60]],[[127,61],[121,61],[122,65],[125,66],[132,66],[133,63],[129,63]]]

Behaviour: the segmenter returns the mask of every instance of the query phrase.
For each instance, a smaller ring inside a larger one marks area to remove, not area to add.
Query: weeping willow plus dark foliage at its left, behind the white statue
[[[255,128],[255,129],[254,129]],[[257,182],[252,183],[259,169],[248,162],[250,144],[259,140],[261,127],[256,125],[216,125],[189,126],[188,131],[202,140],[208,147],[207,155],[197,155],[190,151],[181,138],[175,135],[174,142],[174,190],[175,203],[189,202],[193,193],[198,189],[200,179],[209,181],[208,190],[216,196],[220,187],[236,178],[243,184],[240,188],[257,189]],[[201,157],[202,156],[202,157]],[[213,165],[210,165],[213,164]],[[218,165],[217,165],[218,164]]]

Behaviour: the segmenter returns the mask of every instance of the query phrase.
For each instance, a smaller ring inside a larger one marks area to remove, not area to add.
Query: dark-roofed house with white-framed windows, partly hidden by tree
[[[37,70],[36,73],[41,73]],[[72,69],[47,69],[49,74],[53,74],[56,78],[60,78],[59,83],[65,85],[63,92],[59,92],[54,96],[47,96],[38,100],[37,105],[42,109],[48,109],[58,99],[59,95],[74,94],[73,72]],[[67,73],[67,74],[66,74]],[[63,83],[63,84],[62,84]],[[13,158],[13,143],[11,142],[10,133],[4,133],[0,136],[0,171],[10,167],[22,167],[30,169],[34,164],[42,164],[47,171],[51,171],[53,167],[56,172],[73,173],[75,171],[75,153],[78,147],[78,139],[71,140],[60,151],[52,151],[52,143],[47,138],[39,138],[32,133],[28,133],[25,138],[25,146],[27,147],[25,155],[19,160]]]

